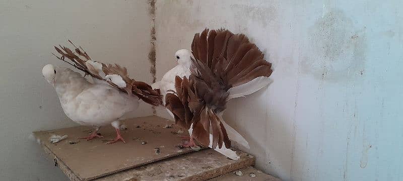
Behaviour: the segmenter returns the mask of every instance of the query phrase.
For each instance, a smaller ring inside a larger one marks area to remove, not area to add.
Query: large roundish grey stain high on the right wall
[[[357,30],[341,11],[331,11],[310,27],[307,60],[301,72],[324,81],[342,81],[360,75],[365,67],[365,27]]]

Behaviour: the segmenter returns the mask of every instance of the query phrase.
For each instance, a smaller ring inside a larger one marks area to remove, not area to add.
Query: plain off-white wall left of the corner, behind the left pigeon
[[[43,79],[50,52],[70,39],[93,60],[119,63],[151,82],[147,1],[0,1],[0,179],[66,180],[32,131],[74,126]],[[152,114],[144,104],[138,116]]]

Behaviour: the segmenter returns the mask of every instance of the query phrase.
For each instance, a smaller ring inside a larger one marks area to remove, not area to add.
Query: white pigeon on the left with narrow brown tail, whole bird
[[[142,99],[154,106],[161,105],[161,96],[151,86],[128,78],[126,68],[119,65],[105,65],[90,60],[89,56],[76,48],[80,58],[66,47],[55,47],[64,58],[70,59],[76,68],[93,77],[94,83],[70,68],[56,67],[51,64],[42,68],[43,77],[54,87],[61,107],[74,122],[94,127],[95,130],[84,139],[102,138],[97,132],[101,126],[111,124],[116,130],[116,138],[107,144],[122,141],[120,120],[135,111]],[[57,56],[56,56],[57,57]],[[66,62],[66,61],[65,61]]]

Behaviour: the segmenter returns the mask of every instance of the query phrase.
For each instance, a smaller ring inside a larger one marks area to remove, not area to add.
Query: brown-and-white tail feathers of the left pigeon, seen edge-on
[[[72,43],[70,40],[69,42]],[[83,48],[77,48],[74,44],[73,46],[75,47],[74,52],[64,46],[55,46],[54,48],[60,54],[60,57],[55,56],[82,70],[85,75],[91,75],[96,79],[108,82],[120,92],[125,92],[129,96],[135,95],[153,106],[162,105],[162,96],[159,89],[153,89],[151,85],[145,82],[130,78],[127,69],[118,64],[104,64],[92,61]],[[70,62],[65,60],[66,58],[69,59]]]

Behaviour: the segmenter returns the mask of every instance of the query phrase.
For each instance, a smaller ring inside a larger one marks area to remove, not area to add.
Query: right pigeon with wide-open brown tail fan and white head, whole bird
[[[245,35],[225,29],[195,34],[191,49],[178,50],[178,65],[152,86],[160,88],[175,123],[189,131],[186,146],[195,146],[196,140],[238,159],[229,149],[230,139],[247,148],[248,142],[224,122],[222,114],[228,100],[252,94],[270,83],[272,64]]]

